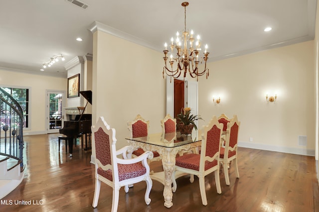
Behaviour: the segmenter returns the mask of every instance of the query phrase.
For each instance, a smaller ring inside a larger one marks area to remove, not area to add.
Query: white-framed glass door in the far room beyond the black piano
[[[46,131],[57,133],[63,127],[63,107],[65,92],[47,91],[46,94]]]

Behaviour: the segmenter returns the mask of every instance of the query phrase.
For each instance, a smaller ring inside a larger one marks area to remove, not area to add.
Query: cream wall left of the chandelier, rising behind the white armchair
[[[127,145],[127,121],[137,114],[150,120],[150,133],[160,132],[162,54],[102,31],[94,32],[93,40],[92,124],[104,116],[116,129],[117,148]]]

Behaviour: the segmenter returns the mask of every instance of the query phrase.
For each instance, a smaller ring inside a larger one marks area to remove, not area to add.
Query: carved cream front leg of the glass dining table
[[[162,165],[163,165],[163,170],[164,170],[164,192],[163,192],[163,196],[164,196],[164,206],[166,208],[170,208],[173,203],[172,203],[172,199],[173,199],[173,193],[171,191],[171,176],[172,176],[172,172],[173,169],[175,167],[175,154],[171,151],[171,148],[165,148],[164,150],[164,155],[162,157]]]

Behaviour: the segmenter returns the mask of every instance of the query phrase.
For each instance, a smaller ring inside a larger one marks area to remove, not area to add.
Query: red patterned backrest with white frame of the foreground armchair
[[[96,162],[96,173],[97,169],[104,166],[106,170],[112,171],[113,181],[119,181],[118,165],[116,162],[116,138],[115,129],[111,128],[110,125],[101,116],[96,125],[91,127],[92,130],[92,142],[95,146],[95,162]]]

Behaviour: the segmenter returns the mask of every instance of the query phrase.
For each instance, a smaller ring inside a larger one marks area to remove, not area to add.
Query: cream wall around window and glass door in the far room
[[[0,69],[1,86],[30,88],[30,129],[25,130],[24,135],[46,133],[46,90],[66,92],[66,84],[67,79],[65,78],[26,74]]]

